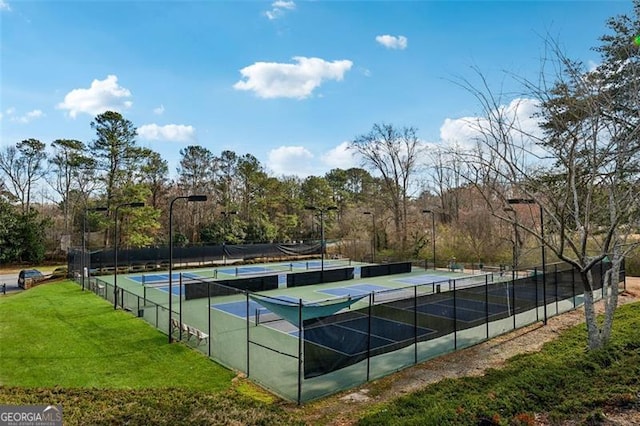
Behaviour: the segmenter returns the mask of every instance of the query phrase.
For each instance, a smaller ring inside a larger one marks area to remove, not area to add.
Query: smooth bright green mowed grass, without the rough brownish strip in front
[[[221,391],[233,372],[64,281],[0,298],[0,385]]]

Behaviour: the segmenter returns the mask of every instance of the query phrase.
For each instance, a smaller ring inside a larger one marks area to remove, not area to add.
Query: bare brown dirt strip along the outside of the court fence
[[[627,277],[626,291],[620,294],[618,303],[623,305],[640,300],[640,278]],[[596,304],[602,312],[601,302]],[[420,390],[431,383],[446,378],[479,376],[489,368],[500,368],[504,362],[518,354],[536,352],[546,342],[555,339],[560,332],[584,323],[584,310],[576,309],[550,318],[547,325],[536,323],[515,330],[470,348],[434,358],[407,368],[359,388],[294,408],[308,424],[346,426],[354,424],[372,403],[387,402],[406,393]],[[606,425],[638,425],[638,410],[606,412]],[[544,416],[536,424],[548,424]],[[571,423],[567,423],[570,425]]]

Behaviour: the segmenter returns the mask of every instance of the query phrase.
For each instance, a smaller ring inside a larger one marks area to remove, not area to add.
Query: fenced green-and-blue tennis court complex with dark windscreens
[[[175,272],[171,306],[166,273],[120,275],[117,291],[112,277],[103,277],[100,294],[114,302],[119,292],[118,306],[167,334],[171,318],[202,330],[210,336],[206,343],[184,343],[300,402],[539,321],[543,307],[545,315],[547,308],[549,315],[572,309],[583,291],[567,281],[579,274],[549,274],[545,306],[540,276],[512,282],[411,268],[360,278],[356,268],[370,265],[351,263],[344,274],[327,268],[325,278],[339,278],[318,284],[312,280],[322,279],[320,271],[308,271],[314,266],[321,262]],[[290,274],[305,278],[290,285]]]

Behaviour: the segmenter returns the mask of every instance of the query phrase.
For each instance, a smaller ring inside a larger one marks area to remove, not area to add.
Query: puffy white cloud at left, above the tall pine
[[[130,97],[129,89],[118,85],[118,77],[109,75],[104,80],[93,80],[88,89],[74,89],[67,93],[57,108],[68,110],[71,118],[76,118],[78,113],[97,115],[108,110],[130,108],[132,102],[127,100]]]

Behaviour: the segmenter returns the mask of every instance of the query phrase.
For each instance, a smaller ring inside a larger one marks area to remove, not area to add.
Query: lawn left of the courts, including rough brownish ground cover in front
[[[0,297],[0,404],[61,404],[65,425],[291,423],[234,377],[75,283]]]

